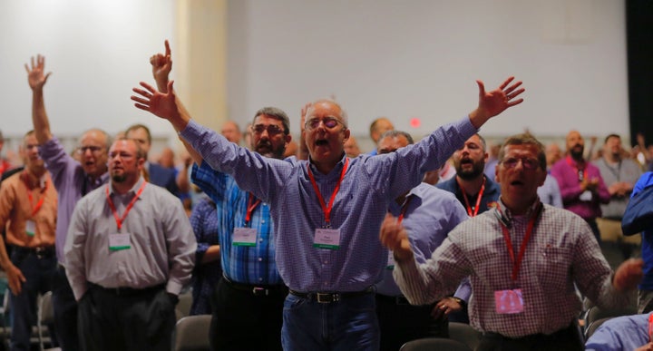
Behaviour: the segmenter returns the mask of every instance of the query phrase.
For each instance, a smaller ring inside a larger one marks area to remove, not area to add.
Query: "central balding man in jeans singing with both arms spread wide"
[[[436,130],[413,146],[376,157],[348,159],[346,112],[330,100],[307,111],[309,161],[272,160],[239,148],[190,119],[168,85],[135,88],[138,108],[167,119],[211,168],[233,176],[270,204],[280,276],[290,294],[284,305],[282,344],[297,349],[378,349],[374,284],[387,263],[377,238],[391,201],[438,168],[463,141],[505,109],[522,102],[512,78],[492,92],[479,86],[479,106],[462,121]]]

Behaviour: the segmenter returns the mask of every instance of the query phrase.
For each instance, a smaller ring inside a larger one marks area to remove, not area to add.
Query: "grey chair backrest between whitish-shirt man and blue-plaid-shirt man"
[[[172,334],[173,351],[209,351],[210,315],[183,317]]]

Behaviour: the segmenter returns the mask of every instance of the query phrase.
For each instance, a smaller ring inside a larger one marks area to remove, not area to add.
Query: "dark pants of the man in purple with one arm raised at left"
[[[77,301],[65,275],[65,268],[61,265],[57,266],[54,273],[52,288],[56,339],[63,351],[77,351],[80,349],[77,338]]]

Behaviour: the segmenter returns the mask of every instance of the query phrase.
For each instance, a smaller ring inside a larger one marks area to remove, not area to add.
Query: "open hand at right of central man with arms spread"
[[[512,83],[514,77],[505,80],[497,89],[492,92],[485,92],[485,85],[482,81],[476,81],[479,86],[479,105],[469,114],[472,125],[479,129],[490,118],[503,112],[504,110],[514,105],[523,102],[523,99],[515,99],[524,92],[521,82]],[[519,89],[517,89],[519,88]]]

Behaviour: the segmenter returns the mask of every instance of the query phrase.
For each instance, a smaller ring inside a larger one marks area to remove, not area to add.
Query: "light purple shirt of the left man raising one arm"
[[[65,263],[63,245],[65,245],[66,233],[77,201],[91,190],[106,183],[109,173],[102,174],[102,177],[95,181],[91,180],[84,173],[82,164],[66,153],[61,142],[55,137],[41,145],[39,151],[59,195],[54,245],[57,260],[63,264]]]

